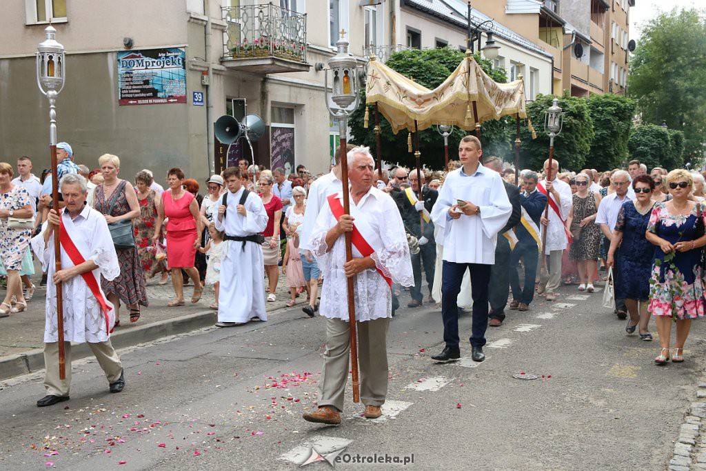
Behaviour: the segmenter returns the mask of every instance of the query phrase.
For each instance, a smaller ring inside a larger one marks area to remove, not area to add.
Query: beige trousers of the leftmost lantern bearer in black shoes
[[[118,381],[123,372],[123,365],[110,339],[105,342],[88,342],[88,346],[105,372],[108,383]],[[64,353],[66,379],[61,380],[59,379],[59,342],[44,344],[44,365],[47,369],[44,374],[44,388],[47,388],[47,395],[68,395],[68,388],[71,386],[71,342],[64,342]]]

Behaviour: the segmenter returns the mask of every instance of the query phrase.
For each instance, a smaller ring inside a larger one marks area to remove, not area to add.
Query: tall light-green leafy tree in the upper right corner
[[[630,96],[645,123],[684,133],[684,154],[702,159],[706,134],[706,18],[695,8],[676,8],[648,21],[630,61]]]

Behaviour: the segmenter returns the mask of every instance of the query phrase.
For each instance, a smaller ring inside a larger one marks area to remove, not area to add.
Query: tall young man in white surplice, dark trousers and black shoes
[[[431,357],[437,362],[460,358],[457,298],[467,269],[473,297],[471,358],[474,362],[485,359],[490,271],[495,263],[498,231],[508,222],[513,206],[500,174],[483,167],[481,155],[478,138],[461,139],[458,158],[462,167],[446,176],[431,210],[434,224],[444,227],[441,316],[446,346]]]

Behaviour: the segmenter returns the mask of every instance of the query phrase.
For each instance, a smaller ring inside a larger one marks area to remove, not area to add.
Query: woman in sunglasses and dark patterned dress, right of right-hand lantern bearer
[[[566,221],[566,225],[570,227],[573,234],[569,259],[576,261],[578,266],[580,283],[578,290],[592,293],[594,275],[597,274],[598,244],[601,238],[601,229],[595,224],[601,195],[588,191],[591,183],[587,174],[576,175],[575,182],[573,209]]]

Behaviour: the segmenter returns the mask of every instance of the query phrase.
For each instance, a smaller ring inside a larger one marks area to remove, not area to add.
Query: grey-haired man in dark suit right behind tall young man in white
[[[487,167],[494,172],[503,172],[503,160],[500,157],[491,155],[487,157],[484,167]],[[505,193],[508,193],[510,204],[513,205],[513,213],[510,214],[505,227],[498,232],[498,242],[495,246],[495,265],[491,268],[488,300],[490,302],[491,311],[488,314],[491,327],[499,327],[505,320],[505,305],[508,304],[508,296],[510,295],[510,253],[512,246],[510,242],[515,244],[515,234],[513,227],[520,222],[520,189],[513,184],[509,184],[503,180]]]

